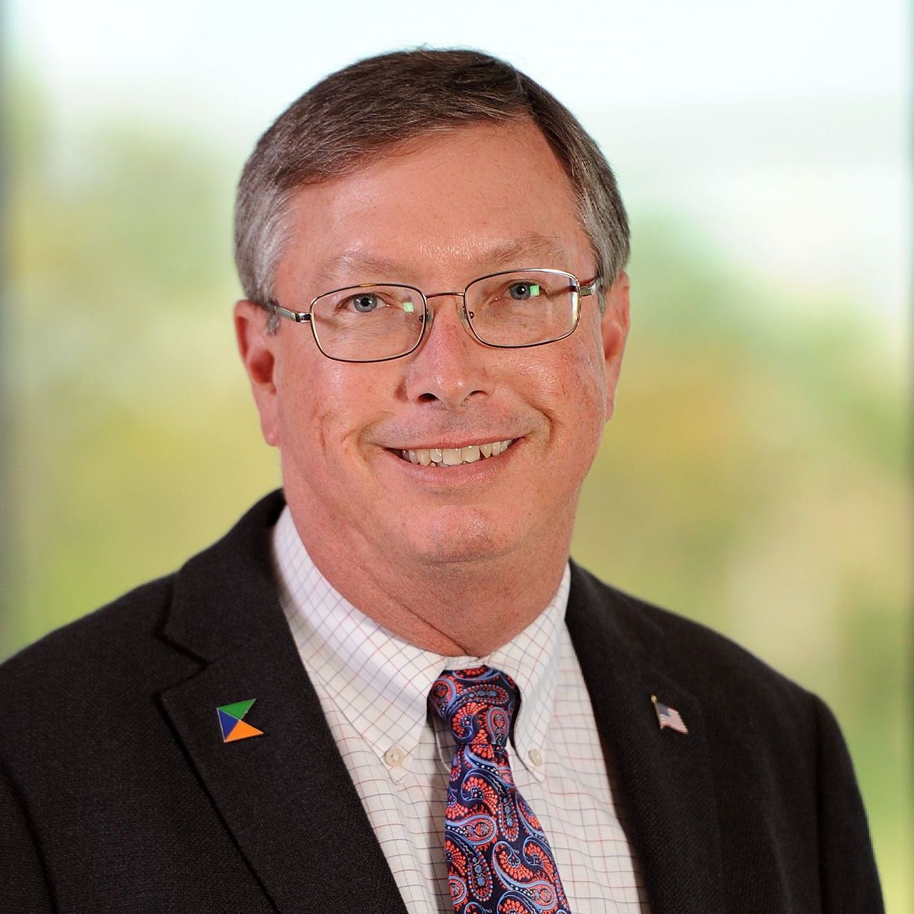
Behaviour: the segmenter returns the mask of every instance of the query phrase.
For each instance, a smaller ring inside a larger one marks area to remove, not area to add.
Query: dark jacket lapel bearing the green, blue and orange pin
[[[228,831],[282,912],[405,914],[276,596],[273,495],[175,584],[165,634],[203,661],[162,704]],[[263,736],[224,742],[216,708],[255,698]]]

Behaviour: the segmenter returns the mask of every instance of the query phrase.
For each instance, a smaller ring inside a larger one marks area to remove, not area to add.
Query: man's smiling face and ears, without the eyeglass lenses
[[[569,180],[528,122],[430,135],[355,175],[303,187],[288,232],[276,299],[302,311],[361,282],[431,294],[512,268],[582,282],[595,271]],[[460,298],[434,298],[420,348],[374,364],[324,357],[304,325],[264,335],[262,311],[239,303],[261,427],[280,448],[292,516],[325,573],[335,562],[405,569],[567,550],[611,412],[628,325],[624,276],[607,297],[602,320],[596,296],[583,298],[572,335],[522,349],[481,345],[461,323]],[[505,452],[456,466],[401,455],[507,440]]]

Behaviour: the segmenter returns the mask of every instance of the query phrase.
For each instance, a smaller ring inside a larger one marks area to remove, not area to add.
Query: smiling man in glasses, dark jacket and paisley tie
[[[569,565],[629,326],[569,112],[361,61],[260,139],[236,251],[282,494],[5,665],[0,907],[881,909],[821,701]]]

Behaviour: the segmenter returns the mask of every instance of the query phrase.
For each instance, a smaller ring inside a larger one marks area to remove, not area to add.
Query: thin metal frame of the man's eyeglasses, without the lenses
[[[571,324],[571,329],[562,334],[561,336],[556,336],[552,339],[543,340],[539,343],[517,343],[517,344],[504,344],[504,343],[487,343],[479,334],[476,333],[475,328],[473,327],[473,319],[470,317],[469,312],[466,307],[466,293],[470,290],[470,287],[475,285],[477,282],[483,282],[484,280],[490,280],[495,276],[507,276],[511,273],[553,273],[557,276],[567,277],[574,286],[574,320]],[[559,340],[565,339],[566,336],[570,336],[575,332],[578,327],[580,319],[580,303],[581,298],[586,298],[588,295],[593,295],[597,290],[597,285],[600,282],[600,276],[594,276],[592,280],[588,282],[580,282],[578,277],[574,273],[569,273],[565,270],[550,270],[544,267],[519,267],[515,270],[500,270],[494,273],[486,273],[485,276],[479,276],[474,279],[472,282],[468,282],[466,287],[462,292],[433,292],[430,295],[426,295],[425,292],[422,292],[421,289],[418,289],[416,286],[409,285],[406,282],[361,282],[356,285],[343,286],[339,289],[332,289],[330,292],[322,292],[320,295],[317,295],[311,300],[311,304],[308,307],[307,311],[292,311],[289,308],[283,308],[282,305],[276,302],[274,299],[270,299],[267,302],[262,303],[262,307],[266,309],[270,314],[277,314],[280,317],[284,317],[287,320],[292,321],[295,324],[310,324],[311,332],[314,335],[314,343],[317,344],[317,348],[320,351],[322,356],[333,359],[335,362],[350,362],[358,365],[367,365],[370,362],[390,362],[395,358],[403,358],[404,356],[409,356],[414,353],[421,345],[422,340],[425,339],[425,331],[430,326],[434,313],[429,307],[429,300],[432,298],[442,298],[442,297],[457,297],[460,298],[462,307],[460,311],[461,321],[464,327],[473,335],[473,338],[477,343],[480,343],[484,346],[489,346],[492,349],[528,349],[537,345],[548,345],[549,343],[558,343]],[[319,300],[324,298],[327,295],[335,295],[337,292],[345,292],[349,289],[375,289],[375,288],[397,288],[397,289],[409,289],[412,292],[418,292],[420,298],[422,299],[422,326],[420,329],[419,337],[417,338],[414,345],[412,345],[406,352],[400,352],[396,356],[384,356],[383,358],[341,358],[340,356],[331,356],[329,353],[324,351],[324,346],[321,345],[320,337],[317,335],[317,328],[314,325],[314,318],[312,312],[314,311],[314,304]]]

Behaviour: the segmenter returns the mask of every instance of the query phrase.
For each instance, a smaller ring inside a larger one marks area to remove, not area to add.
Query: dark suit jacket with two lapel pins
[[[403,914],[277,600],[281,510],[0,667],[0,910]],[[568,625],[654,914],[882,909],[818,698],[576,566]],[[249,698],[265,736],[224,743]]]

